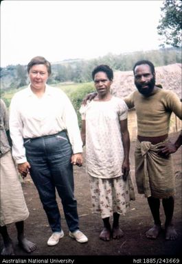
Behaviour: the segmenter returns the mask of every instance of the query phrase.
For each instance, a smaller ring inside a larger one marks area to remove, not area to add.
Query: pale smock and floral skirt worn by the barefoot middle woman
[[[129,206],[128,180],[122,179],[124,149],[120,120],[127,119],[124,100],[90,101],[81,106],[86,121],[86,160],[93,211],[101,217],[124,214]]]

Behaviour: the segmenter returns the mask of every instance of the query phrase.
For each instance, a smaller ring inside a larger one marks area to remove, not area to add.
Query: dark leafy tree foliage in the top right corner
[[[161,19],[157,27],[158,34],[163,36],[163,41],[167,45],[181,47],[182,1],[163,1],[161,12]],[[161,46],[164,47],[163,44]]]

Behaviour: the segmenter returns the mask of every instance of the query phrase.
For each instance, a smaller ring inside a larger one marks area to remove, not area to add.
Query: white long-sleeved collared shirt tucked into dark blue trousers
[[[43,97],[38,98],[29,85],[12,97],[10,136],[16,163],[27,161],[23,139],[56,134],[61,130],[67,130],[73,154],[82,152],[76,112],[60,89],[46,85]]]

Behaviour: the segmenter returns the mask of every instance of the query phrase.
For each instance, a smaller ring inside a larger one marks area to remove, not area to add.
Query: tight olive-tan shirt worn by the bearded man
[[[135,107],[139,136],[168,134],[172,112],[182,119],[182,104],[176,93],[157,86],[149,97],[135,91],[124,101],[128,108]]]

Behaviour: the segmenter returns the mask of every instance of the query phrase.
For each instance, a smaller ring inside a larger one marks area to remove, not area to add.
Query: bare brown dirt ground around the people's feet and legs
[[[172,141],[178,133],[171,134]],[[22,183],[23,193],[30,211],[30,217],[25,221],[25,234],[28,239],[36,243],[37,249],[32,254],[26,254],[21,250],[16,240],[16,230],[14,225],[8,227],[17,256],[28,256],[35,258],[38,256],[55,257],[57,259],[74,259],[74,263],[87,263],[91,259],[96,263],[121,263],[122,259],[133,262],[133,258],[144,260],[146,257],[157,258],[158,256],[176,258],[181,256],[181,149],[174,157],[174,171],[176,176],[176,198],[174,208],[174,224],[179,237],[176,241],[166,241],[164,234],[161,233],[156,240],[146,239],[145,232],[152,226],[152,217],[144,195],[137,193],[134,179],[134,149],[135,142],[131,143],[130,163],[133,184],[135,187],[136,200],[130,202],[130,208],[124,217],[120,217],[120,226],[124,231],[124,237],[120,240],[111,240],[104,242],[99,239],[102,230],[102,219],[100,215],[93,214],[91,208],[91,197],[89,190],[89,181],[85,173],[85,166],[75,167],[75,196],[78,202],[78,214],[80,217],[80,230],[89,238],[88,243],[80,244],[68,236],[68,228],[62,213],[62,205],[58,197],[60,213],[62,216],[62,229],[65,237],[60,239],[58,245],[54,247],[47,246],[47,239],[52,234],[47,223],[47,217],[38,197],[38,193],[30,177]],[[164,222],[164,213],[161,206],[161,220]],[[2,239],[0,238],[0,247]],[[78,259],[79,258],[79,259]],[[64,263],[64,262],[62,262]],[[65,261],[69,263],[69,260]],[[71,262],[70,262],[71,263]],[[126,262],[124,261],[124,264]],[[137,263],[144,263],[137,262]],[[147,263],[147,262],[145,262]],[[151,262],[155,263],[155,262]],[[157,263],[157,262],[156,262]],[[159,262],[161,263],[161,262]]]

